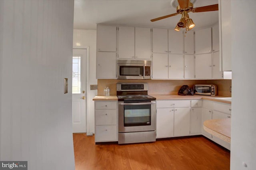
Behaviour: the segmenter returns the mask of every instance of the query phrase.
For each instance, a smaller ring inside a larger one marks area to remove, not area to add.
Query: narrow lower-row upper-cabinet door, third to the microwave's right
[[[194,78],[194,55],[184,55],[184,78]]]

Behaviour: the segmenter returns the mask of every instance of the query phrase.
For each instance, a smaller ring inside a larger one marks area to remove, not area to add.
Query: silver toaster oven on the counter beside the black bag
[[[195,84],[194,94],[217,96],[217,86],[213,84]]]

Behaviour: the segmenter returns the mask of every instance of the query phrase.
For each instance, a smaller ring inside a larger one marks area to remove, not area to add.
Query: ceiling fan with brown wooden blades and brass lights
[[[186,31],[191,30],[194,28],[195,24],[192,21],[192,19],[189,18],[188,12],[208,12],[208,11],[217,11],[218,10],[218,4],[209,5],[209,6],[201,6],[198,8],[194,8],[193,4],[190,2],[190,0],[178,0],[179,5],[177,6],[177,12],[174,14],[169,14],[166,16],[161,16],[158,18],[154,18],[150,20],[151,22],[162,20],[164,18],[168,18],[171,16],[176,16],[178,14],[182,14],[182,17],[174,30],[180,31],[180,28],[186,28]]]

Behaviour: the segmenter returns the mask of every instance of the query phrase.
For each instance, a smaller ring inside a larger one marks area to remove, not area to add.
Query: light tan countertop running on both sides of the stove
[[[219,98],[226,98],[224,96],[202,96],[202,95],[194,95],[194,96],[180,96],[177,94],[149,94],[152,97],[155,97],[156,100],[211,100],[215,102],[222,102],[231,104],[228,100],[221,100]],[[95,96],[93,100],[118,100],[117,96]]]

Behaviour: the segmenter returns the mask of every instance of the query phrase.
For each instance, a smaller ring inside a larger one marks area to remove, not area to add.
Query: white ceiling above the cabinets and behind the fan
[[[172,0],[75,0],[74,28],[96,29],[96,24],[174,28],[181,15],[151,22],[150,19],[176,13]],[[197,0],[194,8],[218,4],[218,0]],[[218,11],[189,13],[195,28],[218,22]]]

